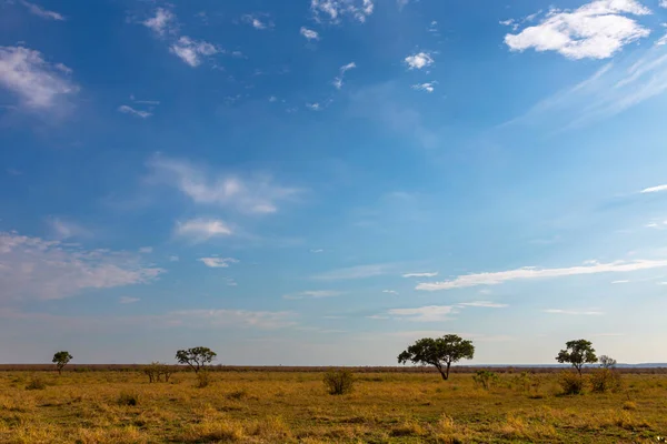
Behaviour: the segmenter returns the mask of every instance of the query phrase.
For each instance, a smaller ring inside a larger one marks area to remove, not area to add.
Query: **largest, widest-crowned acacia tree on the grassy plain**
[[[399,364],[408,361],[414,364],[432,365],[438,369],[442,380],[449,379],[449,367],[460,360],[471,360],[475,355],[472,341],[464,340],[456,334],[442,337],[425,337],[398,355]]]

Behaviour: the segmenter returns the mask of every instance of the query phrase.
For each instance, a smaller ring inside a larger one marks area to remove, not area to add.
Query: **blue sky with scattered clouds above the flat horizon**
[[[0,2],[1,362],[667,361],[666,2],[288,3]]]

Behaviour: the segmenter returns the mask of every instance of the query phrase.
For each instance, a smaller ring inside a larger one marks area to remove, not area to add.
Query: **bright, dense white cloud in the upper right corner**
[[[551,9],[537,26],[507,34],[512,51],[557,51],[569,59],[607,59],[650,31],[625,14],[650,10],[635,0],[596,0],[574,10]]]

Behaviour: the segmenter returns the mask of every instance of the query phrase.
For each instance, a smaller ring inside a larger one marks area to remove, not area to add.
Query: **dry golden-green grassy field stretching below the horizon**
[[[0,372],[0,442],[658,442],[667,375],[623,377],[617,393],[564,396],[555,373],[501,374],[488,391],[470,374],[359,373],[332,396],[315,372],[211,372],[206,387],[185,372],[155,384],[139,372]]]

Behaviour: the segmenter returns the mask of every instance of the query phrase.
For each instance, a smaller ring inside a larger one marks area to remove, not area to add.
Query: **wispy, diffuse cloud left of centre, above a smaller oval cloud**
[[[196,203],[231,208],[241,213],[275,213],[280,202],[301,193],[299,189],[276,184],[268,175],[208,174],[203,168],[163,157],[152,158],[148,167],[153,173],[152,182],[175,186]]]

